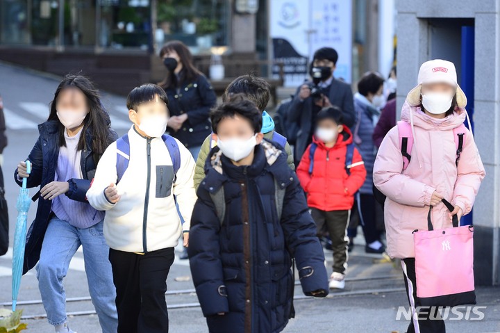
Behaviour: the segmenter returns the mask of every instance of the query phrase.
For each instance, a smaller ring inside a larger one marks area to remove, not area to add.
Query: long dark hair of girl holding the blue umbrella
[[[59,83],[56,92],[54,93],[54,98],[50,103],[50,115],[49,120],[55,120],[59,124],[59,143],[61,146],[66,145],[66,140],[64,136],[65,127],[60,122],[56,111],[56,101],[58,99],[59,93],[65,88],[77,88],[87,98],[87,104],[89,106],[90,112],[87,114],[83,120],[83,129],[80,140],[78,141],[78,150],[87,149],[87,143],[85,141],[85,133],[87,129],[90,129],[92,133],[92,152],[93,154],[102,155],[108,145],[110,144],[110,117],[103,105],[101,104],[101,99],[99,99],[99,92],[92,82],[82,75],[69,74],[65,76],[63,81]]]

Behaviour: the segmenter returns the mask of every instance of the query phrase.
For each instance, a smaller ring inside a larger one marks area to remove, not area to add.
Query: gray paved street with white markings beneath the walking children
[[[0,63],[0,95],[6,108],[9,146],[4,152],[3,172],[10,211],[10,236],[15,222],[15,198],[19,188],[12,180],[12,172],[19,161],[26,158],[38,133],[36,125],[49,114],[49,101],[58,85],[58,78],[30,72]],[[126,116],[125,98],[103,94],[103,104],[112,116],[112,126],[122,134],[130,127]],[[35,190],[32,190],[35,193]],[[34,205],[30,220],[34,218]],[[290,320],[285,332],[406,332],[406,320],[396,320],[397,307],[406,306],[401,269],[398,263],[380,262],[381,257],[366,255],[363,238],[356,238],[357,247],[350,255],[348,281],[344,291],[331,293],[326,299],[303,298],[300,286],[295,289],[294,304],[297,316]],[[9,307],[11,283],[11,256],[0,257],[0,302]],[[326,252],[331,261],[331,252]],[[331,262],[330,262],[331,263]],[[176,259],[169,279],[167,303],[171,320],[170,332],[208,332],[205,320],[192,292],[187,261]],[[83,254],[77,252],[65,279],[67,311],[74,314],[69,322],[76,332],[100,332],[97,316],[92,314]],[[483,320],[448,320],[449,332],[500,332],[500,288],[478,288],[478,305],[486,306]],[[40,303],[38,283],[32,272],[22,279],[19,304],[24,309],[26,332],[53,332]]]

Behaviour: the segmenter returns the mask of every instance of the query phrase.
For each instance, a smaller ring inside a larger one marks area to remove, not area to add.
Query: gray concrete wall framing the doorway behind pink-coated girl
[[[474,268],[477,284],[500,284],[499,1],[398,0],[397,11],[399,109],[420,65],[432,58],[429,19],[474,19],[474,137],[487,174],[474,206]]]

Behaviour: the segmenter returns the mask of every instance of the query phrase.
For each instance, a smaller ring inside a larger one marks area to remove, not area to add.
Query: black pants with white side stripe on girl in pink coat
[[[417,283],[415,279],[415,258],[406,258],[401,260],[401,266],[403,267],[403,275],[406,286],[406,296],[408,297],[408,302],[410,307],[417,308],[422,306],[419,298],[417,298]],[[418,320],[414,322],[413,318],[408,326],[407,333],[445,333],[446,327],[444,327],[444,320],[442,320],[437,308],[425,308],[422,309],[420,314],[415,314],[418,316]],[[433,319],[430,319],[432,317]],[[417,330],[417,327],[419,330]]]

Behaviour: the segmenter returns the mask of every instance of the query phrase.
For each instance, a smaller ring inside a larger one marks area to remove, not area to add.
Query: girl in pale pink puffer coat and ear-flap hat
[[[413,145],[411,161],[403,170],[399,130],[394,127],[383,139],[374,164],[374,184],[387,196],[385,228],[387,253],[403,259],[410,306],[417,307],[415,249],[412,232],[427,229],[427,213],[433,206],[435,229],[452,227],[451,216],[469,213],[485,170],[474,137],[465,133],[463,150],[456,165],[453,129],[465,122],[467,98],[456,82],[453,63],[431,60],[422,65],[419,84],[408,93],[401,120],[410,123]],[[468,120],[468,117],[467,117]],[[470,126],[469,126],[470,128]],[[444,198],[455,206],[450,213]],[[408,332],[444,332],[444,321],[412,320]]]

